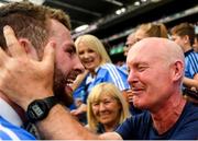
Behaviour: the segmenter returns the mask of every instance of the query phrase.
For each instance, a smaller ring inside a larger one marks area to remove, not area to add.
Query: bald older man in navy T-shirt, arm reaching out
[[[10,37],[13,38],[12,33],[7,35],[8,43],[12,40]],[[18,45],[15,39],[14,42],[10,46]],[[1,51],[1,54],[3,52]],[[3,56],[6,55],[3,54]],[[18,95],[7,93],[9,97],[19,102],[26,109],[28,106],[35,103],[35,101],[32,102],[33,99],[37,99],[41,95],[47,97],[52,94],[41,81],[36,81],[36,78],[30,78],[30,72],[25,72],[23,78],[19,77],[19,67],[20,70],[26,70],[28,68],[34,69],[35,66],[22,67],[20,63],[14,66],[10,62],[11,59],[18,62],[16,57],[0,58],[2,62],[0,73],[4,72],[3,77],[0,77],[0,87],[8,92],[13,91]],[[7,64],[4,64],[6,62]],[[97,136],[73,119],[69,111],[65,111],[62,105],[56,104],[45,118],[35,121],[42,129],[42,133],[48,139],[198,139],[198,106],[187,102],[182,96],[180,86],[185,64],[180,47],[168,39],[145,38],[130,49],[127,63],[130,70],[128,81],[134,95],[133,103],[136,107],[147,109],[147,111],[127,119],[114,132]],[[12,66],[12,69],[9,69],[8,66]],[[48,68],[44,66],[43,71],[47,72]],[[12,77],[6,73],[8,70],[12,72]],[[38,71],[34,70],[32,73],[40,74]],[[48,75],[45,81],[47,82],[51,78]],[[10,83],[30,82],[30,84],[21,86],[18,83],[18,86],[7,87],[4,85],[8,81],[11,81]],[[41,84],[40,90],[33,89],[35,83]],[[23,102],[19,101],[21,96],[23,96]]]

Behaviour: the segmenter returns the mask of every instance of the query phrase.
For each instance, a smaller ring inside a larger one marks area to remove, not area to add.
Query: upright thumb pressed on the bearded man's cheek
[[[45,48],[44,48],[44,55],[43,55],[43,60],[45,66],[53,68],[54,70],[54,59],[55,59],[55,43],[50,42]]]

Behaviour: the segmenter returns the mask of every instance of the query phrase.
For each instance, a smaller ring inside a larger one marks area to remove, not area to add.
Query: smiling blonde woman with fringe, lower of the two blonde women
[[[114,131],[129,116],[123,95],[112,83],[96,85],[87,98],[88,129],[97,132]]]

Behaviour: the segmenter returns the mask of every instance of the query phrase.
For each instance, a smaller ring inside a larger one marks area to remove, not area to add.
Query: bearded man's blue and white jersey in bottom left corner
[[[0,116],[0,140],[35,140],[35,138],[23,128],[13,126]]]

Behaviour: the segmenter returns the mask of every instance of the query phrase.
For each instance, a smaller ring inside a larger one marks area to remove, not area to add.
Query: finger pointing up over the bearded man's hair
[[[7,42],[8,50],[10,51],[12,57],[26,55],[24,48],[19,44],[14,31],[10,26],[6,25],[3,27],[3,34]]]

